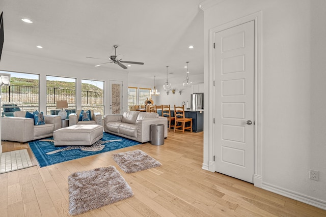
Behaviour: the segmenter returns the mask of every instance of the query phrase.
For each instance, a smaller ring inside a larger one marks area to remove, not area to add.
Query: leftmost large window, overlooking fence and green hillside
[[[10,74],[10,86],[2,86],[2,116],[14,116],[14,111],[39,110],[39,75],[18,72]]]

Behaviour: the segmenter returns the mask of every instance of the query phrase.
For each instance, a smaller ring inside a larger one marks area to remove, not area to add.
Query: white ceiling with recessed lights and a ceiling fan
[[[198,7],[202,1],[1,0],[3,50],[95,66],[105,60],[86,56],[105,59],[114,55],[113,45],[118,45],[122,60],[144,65],[124,70],[108,63],[100,66],[102,69],[159,79],[166,77],[166,66],[172,77],[185,75],[185,62],[189,61],[190,77],[203,73],[204,18]]]

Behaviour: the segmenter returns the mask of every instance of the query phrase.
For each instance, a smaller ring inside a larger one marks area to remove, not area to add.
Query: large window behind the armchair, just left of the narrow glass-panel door
[[[82,79],[82,109],[104,114],[104,81]]]

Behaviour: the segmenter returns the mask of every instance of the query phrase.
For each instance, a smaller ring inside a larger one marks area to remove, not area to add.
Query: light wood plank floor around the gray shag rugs
[[[2,144],[4,152],[28,148],[28,144]],[[135,149],[145,151],[162,166],[124,173],[112,154]],[[146,143],[0,174],[0,216],[69,216],[67,177],[109,165],[122,174],[134,197],[80,216],[326,216],[325,210],[202,170],[202,159],[203,133],[171,132],[160,146]]]

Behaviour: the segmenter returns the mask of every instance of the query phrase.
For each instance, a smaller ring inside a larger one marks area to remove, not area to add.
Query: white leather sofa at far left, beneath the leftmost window
[[[26,111],[15,111],[14,117],[2,118],[2,140],[28,142],[53,136],[53,131],[61,128],[61,117],[58,115],[44,115],[45,125],[34,125],[34,119],[25,115]]]

